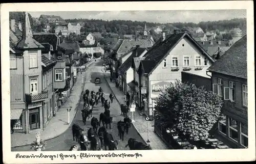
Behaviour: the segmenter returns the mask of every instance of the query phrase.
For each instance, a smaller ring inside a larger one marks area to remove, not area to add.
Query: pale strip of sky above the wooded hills
[[[169,11],[65,11],[29,12],[32,17],[41,14],[56,15],[63,19],[87,18],[102,20],[132,20],[156,23],[215,21],[246,18],[246,10],[169,10]]]

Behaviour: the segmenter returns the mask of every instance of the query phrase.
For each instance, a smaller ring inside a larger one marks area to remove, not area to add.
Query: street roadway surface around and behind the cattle
[[[101,86],[105,94],[105,98],[109,99],[111,89],[109,88],[108,84],[106,84],[107,82],[104,79],[104,75],[102,72],[104,67],[102,66],[102,64],[103,64],[103,61],[99,60],[95,64],[92,64],[90,67],[88,67],[87,77],[89,78],[86,79],[84,91],[88,89],[90,90],[90,92],[92,90],[97,92],[99,87]],[[100,77],[101,84],[94,84],[95,77]],[[87,120],[86,125],[83,124],[82,116],[80,112],[82,110],[82,107],[83,107],[83,100],[80,101],[79,109],[77,111],[77,114],[72,124],[76,123],[81,128],[84,128],[84,133],[87,135],[87,131],[91,127],[91,118]],[[101,106],[101,103],[94,106],[93,116],[96,117],[98,120],[99,120],[100,113],[103,113],[103,112],[104,112],[104,108]],[[131,124],[131,128],[129,129],[129,134],[126,134],[126,133],[124,134],[124,141],[120,140],[118,136],[117,122],[120,120],[123,120],[123,116],[121,116],[120,105],[116,99],[114,99],[113,103],[110,104],[110,112],[111,112],[110,113],[111,117],[113,117],[113,123],[111,124],[111,129],[109,129],[108,127],[107,131],[113,135],[115,140],[118,141],[118,150],[130,150],[129,147],[124,148],[129,138],[134,138],[137,141],[144,143],[140,135],[137,133],[133,124]],[[101,126],[102,126],[102,123],[101,123]],[[42,151],[68,151],[72,145],[79,145],[76,141],[73,141],[71,127],[72,126],[70,126],[63,134],[61,134],[57,138],[46,141],[47,143],[46,149]],[[100,142],[99,142],[99,145],[100,145]],[[102,149],[105,150],[104,147]],[[90,150],[90,146],[89,146],[89,150]],[[12,148],[11,151],[33,151],[33,150],[31,150],[30,145],[28,145],[28,146]]]

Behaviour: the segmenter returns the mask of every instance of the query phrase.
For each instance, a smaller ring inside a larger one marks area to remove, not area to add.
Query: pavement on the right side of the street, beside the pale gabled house
[[[119,104],[125,104],[123,100],[124,93],[119,90],[119,88],[115,87],[114,83],[111,83],[110,81],[110,73],[104,73],[105,79],[111,88],[113,94],[115,95],[117,101]],[[129,112],[127,114],[130,119],[132,120],[132,112]],[[147,140],[150,140],[150,146],[153,150],[165,150],[168,149],[168,147],[164,144],[164,142],[158,137],[158,135],[154,132],[154,121],[146,121],[145,116],[141,116],[139,110],[136,110],[134,112],[134,120],[133,122],[134,127],[138,131],[138,133],[141,135],[141,138],[146,142]],[[148,134],[147,134],[148,130]],[[148,136],[147,136],[148,135]],[[146,142],[147,143],[147,142]]]

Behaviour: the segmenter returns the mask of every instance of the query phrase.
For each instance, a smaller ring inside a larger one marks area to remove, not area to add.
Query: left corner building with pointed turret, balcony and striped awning
[[[53,116],[52,70],[56,62],[49,53],[52,47],[33,39],[27,12],[24,22],[17,28],[11,20],[9,31],[11,129],[29,133],[43,130]]]

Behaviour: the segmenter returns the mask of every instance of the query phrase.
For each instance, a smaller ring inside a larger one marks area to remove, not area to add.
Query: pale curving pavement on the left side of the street
[[[94,62],[89,62],[85,64],[87,67],[93,64]],[[61,135],[63,132],[65,132],[69,126],[71,125],[73,119],[75,118],[81,93],[83,91],[84,87],[84,80],[83,78],[90,75],[90,72],[87,73],[78,72],[77,74],[77,81],[74,84],[70,97],[66,100],[66,102],[61,105],[58,112],[56,113],[55,117],[52,117],[49,124],[46,126],[44,131],[40,131],[41,133],[41,140],[47,141],[53,138],[56,138],[57,136]],[[71,107],[72,106],[72,107]],[[68,112],[67,108],[71,107],[72,110],[70,111],[70,123],[68,124]],[[11,134],[11,147],[19,147],[19,146],[25,146],[33,143],[35,141],[35,133],[25,134],[25,133],[13,133]]]

